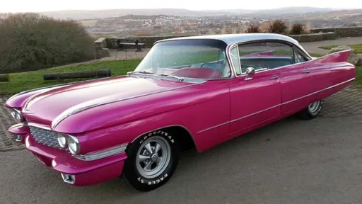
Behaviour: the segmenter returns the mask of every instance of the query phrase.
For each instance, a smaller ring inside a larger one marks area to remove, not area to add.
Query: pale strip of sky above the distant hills
[[[361,0],[2,0],[0,13],[117,8],[187,8],[189,10],[269,9],[289,6],[362,8]]]

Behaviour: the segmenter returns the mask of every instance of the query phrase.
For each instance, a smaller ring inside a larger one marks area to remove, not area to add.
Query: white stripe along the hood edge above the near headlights
[[[127,98],[120,98],[120,99],[112,100],[112,101],[103,101],[103,102],[94,103],[94,104],[88,105],[88,106],[86,105],[86,103],[80,103],[80,104],[78,104],[76,106],[73,106],[71,108],[66,109],[65,111],[60,113],[57,116],[57,118],[54,118],[54,120],[52,121],[52,130],[54,130],[54,128],[56,128],[57,125],[59,125],[60,122],[62,122],[64,119],[68,118],[69,116],[74,115],[76,113],[79,113],[81,111],[87,110],[89,108],[95,108],[97,106],[103,106],[103,105],[107,105],[109,103],[116,103],[116,102],[119,102],[119,101],[125,101],[125,100],[129,100],[129,99],[132,99],[132,98],[138,98],[138,97],[141,97],[141,96],[149,96],[149,95],[152,95],[152,94],[159,94],[159,93],[162,93],[162,92],[165,92],[165,91],[173,91],[173,90],[176,90],[176,89],[182,89],[182,88],[186,88],[186,87],[189,87],[189,86],[199,85],[199,84],[202,84],[204,82],[205,81],[202,81],[202,82],[197,83],[197,84],[190,84],[190,85],[187,85],[187,86],[180,86],[180,87],[176,87],[176,88],[173,88],[173,89],[155,91],[155,92],[151,92],[151,93],[147,93],[147,94],[141,94],[141,95],[131,96],[131,97],[127,97]]]

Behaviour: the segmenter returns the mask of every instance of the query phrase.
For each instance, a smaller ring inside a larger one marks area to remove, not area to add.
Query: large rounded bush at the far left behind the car
[[[94,59],[94,40],[76,21],[37,13],[7,14],[0,19],[0,30],[0,73]]]

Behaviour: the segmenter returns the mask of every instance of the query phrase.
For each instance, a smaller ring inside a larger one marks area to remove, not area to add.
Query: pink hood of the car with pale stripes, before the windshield
[[[30,97],[23,107],[23,113],[30,120],[51,123],[67,110],[157,94],[184,86],[189,86],[189,83],[136,77],[81,82]]]

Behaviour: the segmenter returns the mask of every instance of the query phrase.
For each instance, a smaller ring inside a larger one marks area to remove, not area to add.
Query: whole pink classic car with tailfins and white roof
[[[184,149],[203,152],[288,115],[315,118],[354,81],[349,53],[313,58],[276,34],[160,40],[127,76],[12,96],[18,124],[8,131],[65,183],[123,175],[150,191],[173,176]]]

